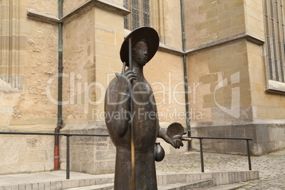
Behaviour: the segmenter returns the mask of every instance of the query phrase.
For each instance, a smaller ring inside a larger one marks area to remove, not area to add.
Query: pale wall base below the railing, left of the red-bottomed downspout
[[[1,135],[0,174],[52,170],[53,140],[52,136]]]

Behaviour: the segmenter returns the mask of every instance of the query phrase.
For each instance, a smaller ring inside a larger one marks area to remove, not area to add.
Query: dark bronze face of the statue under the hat
[[[147,63],[147,43],[138,41],[138,43],[133,46],[132,52],[133,61],[138,65],[145,66]]]

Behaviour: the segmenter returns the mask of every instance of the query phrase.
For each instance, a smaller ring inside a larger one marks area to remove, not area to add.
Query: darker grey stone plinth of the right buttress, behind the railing
[[[202,123],[201,123],[202,124]],[[216,138],[252,138],[250,152],[252,155],[265,155],[279,150],[284,145],[283,124],[235,124],[208,125],[192,128],[193,136]],[[203,150],[207,152],[226,152],[246,155],[245,140],[203,140]],[[192,147],[199,150],[199,141],[193,140]]]

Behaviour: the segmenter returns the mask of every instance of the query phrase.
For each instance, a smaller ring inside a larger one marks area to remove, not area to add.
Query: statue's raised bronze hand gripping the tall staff
[[[116,77],[119,81],[119,88],[124,92],[128,91],[130,84],[133,80],[137,79],[137,74],[130,70],[125,70],[125,62],[123,63],[123,69],[121,74],[116,72]]]

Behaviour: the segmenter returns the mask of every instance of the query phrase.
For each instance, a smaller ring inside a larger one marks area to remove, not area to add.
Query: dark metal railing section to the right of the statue
[[[201,137],[188,137],[188,138],[197,138],[200,141],[200,155],[201,155],[201,172],[204,172],[204,159],[203,159],[203,139],[216,139],[216,140],[246,140],[247,141],[247,160],[248,168],[252,170],[252,163],[250,160],[250,143],[251,138],[201,138]]]

